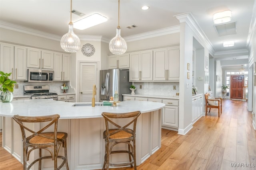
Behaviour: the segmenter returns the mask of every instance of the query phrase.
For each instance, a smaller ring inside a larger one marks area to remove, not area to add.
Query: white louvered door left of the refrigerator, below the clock
[[[97,64],[80,63],[80,102],[92,102],[92,86],[96,82]]]

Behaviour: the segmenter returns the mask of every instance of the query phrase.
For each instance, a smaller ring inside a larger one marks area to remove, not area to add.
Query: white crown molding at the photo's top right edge
[[[254,1],[254,6],[252,9],[252,19],[249,27],[249,33],[247,37],[246,46],[250,49],[252,46],[253,37],[256,37],[256,1]]]

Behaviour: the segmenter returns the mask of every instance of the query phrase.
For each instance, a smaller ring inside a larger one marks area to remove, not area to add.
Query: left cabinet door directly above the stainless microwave
[[[41,50],[28,48],[27,49],[27,67],[41,68]]]

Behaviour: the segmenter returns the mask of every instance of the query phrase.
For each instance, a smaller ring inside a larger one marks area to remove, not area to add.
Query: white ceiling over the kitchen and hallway
[[[254,0],[120,0],[120,27],[122,37],[136,36],[159,29],[179,25],[175,15],[191,12],[195,20],[210,40],[220,60],[230,55],[228,51],[248,49],[247,39],[255,8]],[[141,10],[147,5],[149,10]],[[72,9],[85,14],[72,14],[72,21],[99,13],[108,21],[94,27],[78,30],[76,35],[98,35],[112,39],[118,25],[118,0],[72,0]],[[212,16],[216,12],[232,11],[236,33],[219,36]],[[70,0],[0,0],[0,21],[36,29],[45,33],[62,35],[68,32],[70,21]],[[138,27],[128,29],[128,25]],[[234,40],[234,47],[223,47],[223,41]],[[232,56],[232,55],[231,55]],[[241,55],[240,58],[248,58]],[[238,57],[239,58],[239,57]],[[239,58],[239,59],[240,59]]]

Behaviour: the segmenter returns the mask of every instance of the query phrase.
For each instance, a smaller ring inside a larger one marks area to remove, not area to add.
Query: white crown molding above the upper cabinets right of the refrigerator
[[[180,32],[180,26],[174,26],[174,27],[167,27],[164,29],[157,29],[155,31],[149,31],[146,33],[140,33],[132,36],[127,36],[124,37],[126,42],[131,42],[131,41],[138,41],[141,39],[147,39],[147,38],[152,38],[152,37],[158,37],[161,35],[168,35],[172,33],[179,33]]]

